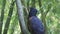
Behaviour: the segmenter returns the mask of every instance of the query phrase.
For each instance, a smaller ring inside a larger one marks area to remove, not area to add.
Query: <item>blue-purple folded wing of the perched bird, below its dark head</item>
[[[37,17],[32,17],[32,19],[30,19],[31,24],[32,24],[32,29],[35,31],[44,31],[44,27],[43,24],[41,22],[41,20],[39,20]]]

